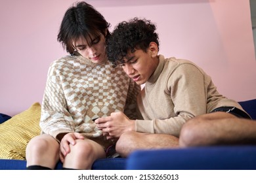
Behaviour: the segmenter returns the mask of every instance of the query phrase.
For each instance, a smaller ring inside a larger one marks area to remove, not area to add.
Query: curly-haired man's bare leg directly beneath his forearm
[[[179,139],[172,135],[139,133],[135,131],[123,133],[116,143],[116,151],[124,158],[135,150],[178,147]]]

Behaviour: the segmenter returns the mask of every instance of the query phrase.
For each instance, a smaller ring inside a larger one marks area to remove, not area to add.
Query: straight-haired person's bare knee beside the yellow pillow
[[[40,165],[54,169],[58,159],[59,144],[51,135],[39,135],[28,142],[26,148],[27,167]]]

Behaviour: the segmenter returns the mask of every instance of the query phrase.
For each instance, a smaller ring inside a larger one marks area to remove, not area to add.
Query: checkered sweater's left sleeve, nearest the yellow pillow
[[[39,125],[43,133],[52,135],[55,139],[58,134],[72,132],[75,128],[72,116],[67,110],[62,82],[54,64],[49,68],[47,76]]]

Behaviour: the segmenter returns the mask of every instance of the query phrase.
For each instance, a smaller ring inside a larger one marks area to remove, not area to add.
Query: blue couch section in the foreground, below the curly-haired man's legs
[[[130,170],[256,170],[256,146],[208,146],[135,151]]]

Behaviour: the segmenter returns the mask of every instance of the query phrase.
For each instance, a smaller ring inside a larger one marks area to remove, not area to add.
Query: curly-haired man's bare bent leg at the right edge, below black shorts
[[[256,122],[226,112],[192,118],[181,129],[180,146],[256,144]]]

